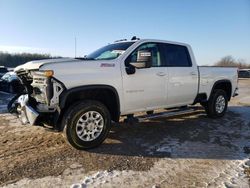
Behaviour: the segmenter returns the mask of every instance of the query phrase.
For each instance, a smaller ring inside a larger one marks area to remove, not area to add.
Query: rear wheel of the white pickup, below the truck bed
[[[224,90],[216,89],[211,94],[208,102],[201,103],[201,105],[205,108],[205,111],[209,117],[218,118],[224,116],[227,105],[228,105],[228,97]]]

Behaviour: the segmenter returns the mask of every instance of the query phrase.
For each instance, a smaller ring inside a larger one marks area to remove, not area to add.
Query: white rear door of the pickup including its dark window
[[[198,69],[186,46],[164,44],[168,72],[168,107],[192,104],[198,92]]]

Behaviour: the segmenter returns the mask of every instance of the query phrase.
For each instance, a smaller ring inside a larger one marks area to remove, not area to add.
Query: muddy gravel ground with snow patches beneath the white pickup
[[[0,93],[2,187],[249,187],[250,80],[221,119],[195,113],[128,125],[100,147],[71,148],[61,133],[21,125]]]

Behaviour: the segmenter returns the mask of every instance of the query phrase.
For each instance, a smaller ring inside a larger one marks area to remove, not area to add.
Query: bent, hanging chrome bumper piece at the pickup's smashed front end
[[[17,100],[18,103],[17,112],[23,124],[29,123],[31,125],[34,125],[39,116],[39,113],[36,112],[34,108],[28,105],[28,101],[29,101],[28,94],[21,95]]]

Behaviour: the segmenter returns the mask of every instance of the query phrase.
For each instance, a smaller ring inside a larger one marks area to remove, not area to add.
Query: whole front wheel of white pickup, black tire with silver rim
[[[80,150],[100,145],[111,127],[106,106],[92,100],[79,102],[69,108],[64,123],[64,134],[69,143]]]

